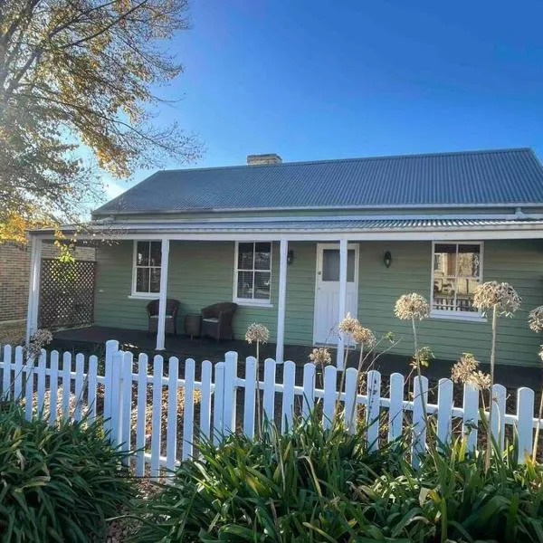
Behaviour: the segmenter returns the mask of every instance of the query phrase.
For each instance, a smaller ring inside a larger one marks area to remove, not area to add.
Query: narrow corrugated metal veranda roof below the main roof
[[[90,229],[100,233],[258,233],[258,232],[388,232],[426,230],[498,230],[505,228],[543,228],[543,220],[507,219],[391,219],[391,220],[317,220],[317,221],[192,221],[168,223],[96,224]]]

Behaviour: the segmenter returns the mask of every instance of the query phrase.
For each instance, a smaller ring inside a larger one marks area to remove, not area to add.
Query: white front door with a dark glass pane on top
[[[358,245],[349,244],[347,252],[347,303],[353,317],[358,306]],[[339,243],[317,244],[317,284],[313,343],[338,343],[339,324]]]

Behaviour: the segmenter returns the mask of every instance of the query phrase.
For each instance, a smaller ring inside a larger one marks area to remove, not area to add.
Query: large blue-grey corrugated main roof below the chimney
[[[539,203],[543,167],[518,148],[159,171],[96,213]]]

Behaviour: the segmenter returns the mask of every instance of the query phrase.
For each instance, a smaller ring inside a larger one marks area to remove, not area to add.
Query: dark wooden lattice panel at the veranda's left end
[[[43,259],[38,326],[54,329],[92,324],[96,262]]]

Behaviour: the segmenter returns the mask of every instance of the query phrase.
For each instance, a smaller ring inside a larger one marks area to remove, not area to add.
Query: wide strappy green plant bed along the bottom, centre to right
[[[514,447],[485,471],[459,439],[415,471],[404,442],[369,452],[363,433],[314,415],[288,435],[271,426],[262,443],[202,443],[137,511],[136,540],[543,542],[543,470],[516,462]]]

